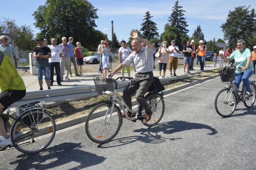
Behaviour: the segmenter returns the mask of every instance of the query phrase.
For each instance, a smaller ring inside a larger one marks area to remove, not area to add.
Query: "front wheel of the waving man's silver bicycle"
[[[85,131],[90,140],[95,143],[106,143],[112,140],[122,125],[122,115],[119,108],[114,105],[110,117],[111,105],[102,103],[89,113],[85,123]],[[110,120],[108,121],[110,117]],[[108,121],[108,123],[107,123]]]

